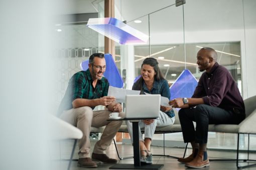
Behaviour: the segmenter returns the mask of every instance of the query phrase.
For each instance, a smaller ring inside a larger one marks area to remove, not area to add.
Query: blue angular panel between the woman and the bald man
[[[170,87],[170,99],[172,100],[178,97],[191,97],[194,93],[197,83],[198,81],[195,76],[188,69],[184,69],[180,76]]]

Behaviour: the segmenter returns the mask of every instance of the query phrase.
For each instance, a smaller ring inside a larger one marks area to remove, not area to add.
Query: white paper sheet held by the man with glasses
[[[107,95],[114,96],[116,102],[125,102],[125,96],[127,94],[140,94],[140,92],[140,90],[117,88],[109,85]]]

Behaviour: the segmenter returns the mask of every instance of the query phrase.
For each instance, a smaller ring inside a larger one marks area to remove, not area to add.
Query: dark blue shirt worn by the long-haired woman
[[[139,81],[136,81],[133,85],[134,90],[141,90],[141,94],[150,93],[150,94],[161,94],[161,96],[167,97],[170,99],[170,88],[168,85],[168,82],[166,79],[160,79],[160,80],[155,80],[153,83],[153,88],[151,91],[148,89],[146,84],[143,81],[142,89],[139,87]],[[174,117],[175,113],[173,109],[170,111],[165,112],[169,117]]]

